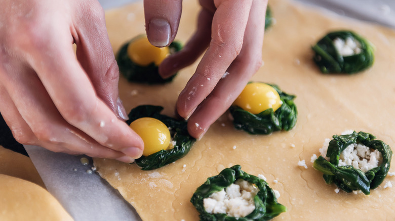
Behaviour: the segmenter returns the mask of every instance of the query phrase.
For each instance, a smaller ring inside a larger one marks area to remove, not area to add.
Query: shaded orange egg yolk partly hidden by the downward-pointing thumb
[[[146,36],[131,41],[128,46],[129,58],[140,66],[148,66],[151,63],[160,65],[168,54],[169,47],[155,47],[149,43]]]

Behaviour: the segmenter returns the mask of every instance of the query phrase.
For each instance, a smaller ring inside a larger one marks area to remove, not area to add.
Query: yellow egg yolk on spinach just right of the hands
[[[283,101],[280,99],[279,93],[270,85],[253,82],[247,84],[233,104],[256,115],[268,108],[273,108],[273,111],[276,111]]]

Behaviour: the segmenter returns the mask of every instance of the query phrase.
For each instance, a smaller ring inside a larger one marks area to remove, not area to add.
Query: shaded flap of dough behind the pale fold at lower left
[[[46,188],[31,159],[0,146],[0,174],[21,178]]]

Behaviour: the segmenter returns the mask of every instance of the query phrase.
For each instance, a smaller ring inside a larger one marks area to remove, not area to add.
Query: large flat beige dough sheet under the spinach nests
[[[195,28],[195,2],[184,1],[177,37],[183,41]],[[164,168],[144,172],[135,164],[95,159],[99,174],[143,220],[198,220],[198,212],[189,202],[193,192],[208,177],[234,164],[241,164],[250,174],[264,175],[280,192],[278,200],[288,212],[275,220],[395,219],[395,189],[383,188],[388,181],[395,184],[394,177],[388,176],[370,196],[335,193],[336,186],[326,185],[310,162],[313,154],[319,155],[325,138],[350,129],[372,133],[395,147],[395,32],[285,0],[269,4],[277,23],[266,31],[264,66],[252,80],[275,83],[297,95],[296,127],[254,136],[233,129],[224,115],[187,156]],[[142,4],[108,11],[106,18],[115,51],[126,40],[144,33]],[[329,30],[338,29],[354,30],[373,42],[376,61],[371,69],[351,76],[319,73],[310,47]],[[165,107],[165,114],[173,115],[177,95],[195,67],[184,69],[173,83],[163,86],[136,85],[121,78],[121,98],[127,110],[156,104]],[[303,159],[307,169],[297,165]]]

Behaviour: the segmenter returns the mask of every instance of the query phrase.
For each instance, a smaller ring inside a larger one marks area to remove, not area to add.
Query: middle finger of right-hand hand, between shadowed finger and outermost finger
[[[211,93],[243,45],[252,1],[222,1],[212,23],[211,42],[177,101],[178,114],[187,119]],[[233,19],[229,19],[233,18]]]

